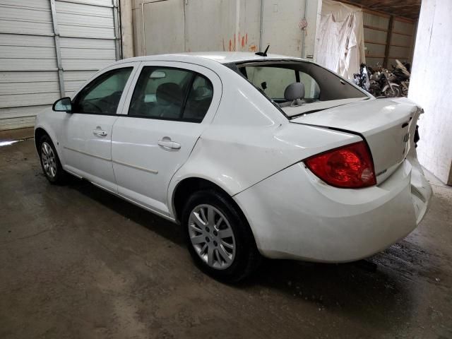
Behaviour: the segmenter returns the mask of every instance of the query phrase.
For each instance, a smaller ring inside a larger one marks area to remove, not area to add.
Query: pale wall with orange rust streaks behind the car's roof
[[[258,52],[262,43],[270,53],[311,58],[321,0],[306,1],[305,8],[304,0],[133,0],[135,55]],[[302,31],[304,17],[309,24]]]

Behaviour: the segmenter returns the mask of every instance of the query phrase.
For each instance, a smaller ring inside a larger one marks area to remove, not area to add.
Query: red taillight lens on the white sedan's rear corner
[[[352,143],[304,160],[311,172],[331,186],[357,189],[376,184],[366,143]]]

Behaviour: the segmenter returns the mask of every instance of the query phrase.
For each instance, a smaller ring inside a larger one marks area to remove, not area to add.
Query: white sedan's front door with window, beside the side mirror
[[[112,167],[112,127],[133,78],[134,63],[109,67],[74,97],[63,121],[64,168],[117,192]]]

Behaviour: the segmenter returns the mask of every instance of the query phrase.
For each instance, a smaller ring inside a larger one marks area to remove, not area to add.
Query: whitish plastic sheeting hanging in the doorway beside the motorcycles
[[[361,8],[323,0],[317,32],[319,64],[349,79],[359,73],[359,64],[366,62]]]

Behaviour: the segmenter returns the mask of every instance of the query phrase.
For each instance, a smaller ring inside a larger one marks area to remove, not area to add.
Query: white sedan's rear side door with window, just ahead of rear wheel
[[[113,126],[118,192],[168,215],[167,189],[220,104],[220,78],[203,66],[143,62]]]

